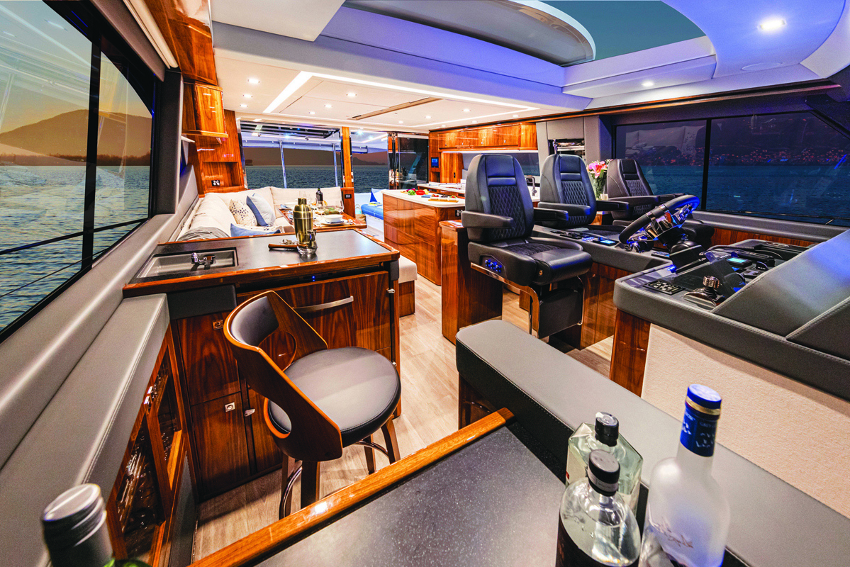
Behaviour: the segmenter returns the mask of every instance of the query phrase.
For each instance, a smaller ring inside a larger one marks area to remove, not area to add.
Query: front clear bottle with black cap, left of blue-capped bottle
[[[587,477],[564,490],[556,567],[632,567],[640,531],[632,508],[617,493],[620,463],[607,451],[588,457]]]

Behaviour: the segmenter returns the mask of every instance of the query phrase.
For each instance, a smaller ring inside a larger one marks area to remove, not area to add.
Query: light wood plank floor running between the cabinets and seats
[[[439,286],[416,280],[416,313],[400,320],[402,415],[395,420],[401,456],[407,456],[457,430],[457,371],[455,345],[442,335]],[[519,296],[505,292],[502,318],[522,329],[528,314],[519,309]],[[568,355],[608,376],[613,337]],[[383,445],[381,435],[377,442]],[[387,465],[376,451],[376,466]],[[321,494],[349,485],[366,476],[363,448],[351,446],[343,458],[321,466]],[[292,495],[299,499],[298,486]],[[280,472],[270,473],[226,494],[202,502],[195,531],[194,559],[269,525],[277,519]]]

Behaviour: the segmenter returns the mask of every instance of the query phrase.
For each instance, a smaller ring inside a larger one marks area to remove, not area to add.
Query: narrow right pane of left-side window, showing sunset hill
[[[131,72],[127,61],[102,43],[95,228],[148,217],[153,128],[148,105],[124,76]]]

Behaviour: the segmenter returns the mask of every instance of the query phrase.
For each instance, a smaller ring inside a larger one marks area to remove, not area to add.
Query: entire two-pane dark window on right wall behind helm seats
[[[810,112],[635,124],[615,135],[615,155],[637,160],[656,194],[700,196],[718,213],[850,224],[850,139]]]

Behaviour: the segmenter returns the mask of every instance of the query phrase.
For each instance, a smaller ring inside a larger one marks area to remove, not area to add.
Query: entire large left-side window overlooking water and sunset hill
[[[149,217],[153,74],[88,3],[0,3],[0,338]]]

